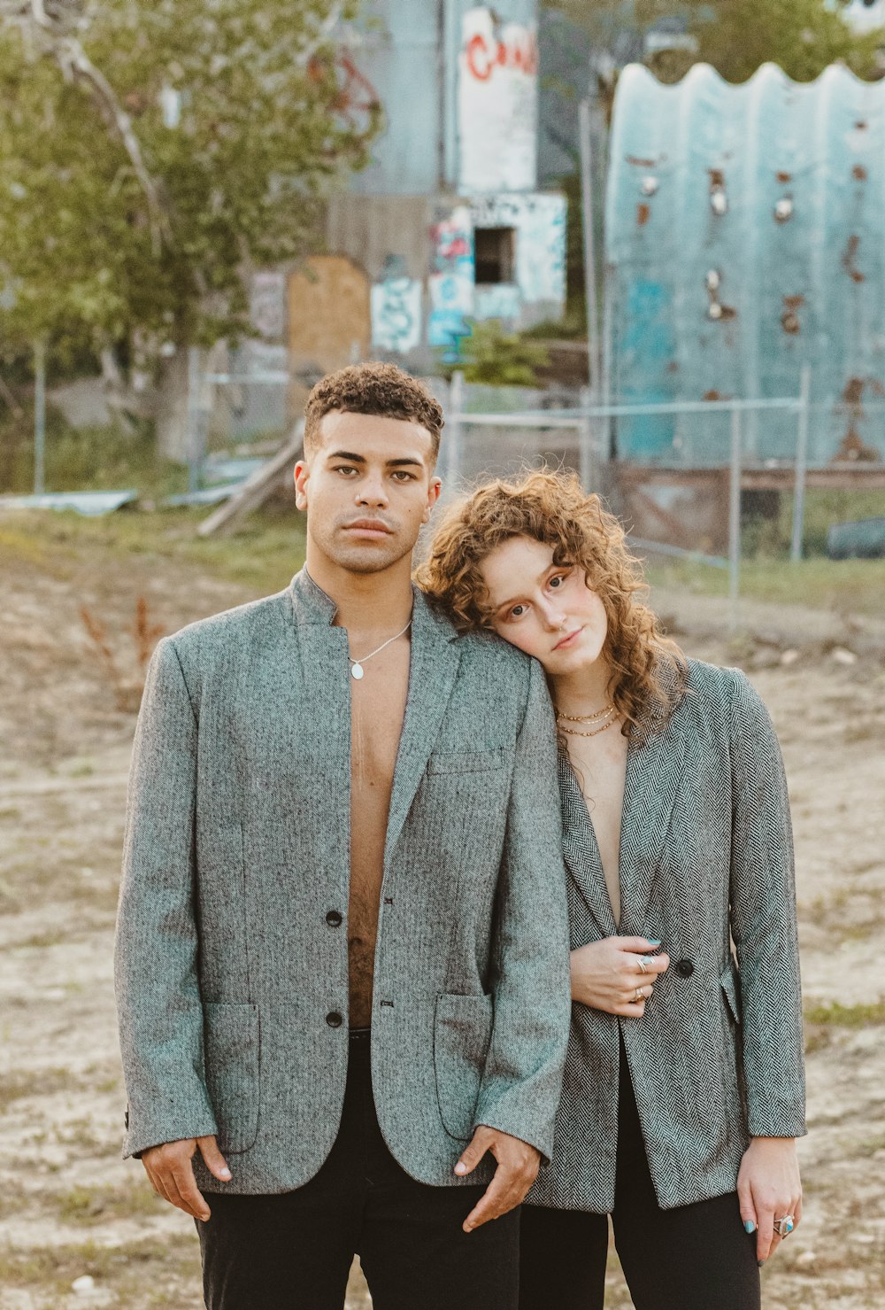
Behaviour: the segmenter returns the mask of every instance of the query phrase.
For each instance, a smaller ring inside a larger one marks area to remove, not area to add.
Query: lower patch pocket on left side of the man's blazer
[[[206,1082],[219,1125],[220,1150],[249,1150],[258,1136],[257,1005],[203,1006]]]

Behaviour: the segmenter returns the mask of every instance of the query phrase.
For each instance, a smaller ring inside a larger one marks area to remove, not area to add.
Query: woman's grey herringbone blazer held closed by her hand
[[[738,669],[689,662],[664,731],[628,748],[618,927],[564,753],[560,794],[572,948],[644,935],[672,963],[641,1019],[572,1003],[554,1157],[529,1201],[611,1210],[619,1030],[659,1204],[731,1192],[749,1134],[805,1132],[792,834],[771,719]]]

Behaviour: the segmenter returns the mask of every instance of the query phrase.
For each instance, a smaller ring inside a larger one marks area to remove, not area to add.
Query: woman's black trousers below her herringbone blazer
[[[737,1193],[660,1209],[623,1044],[611,1225],[635,1310],[759,1310]],[[521,1229],[520,1310],[602,1310],[607,1216],[525,1205]]]

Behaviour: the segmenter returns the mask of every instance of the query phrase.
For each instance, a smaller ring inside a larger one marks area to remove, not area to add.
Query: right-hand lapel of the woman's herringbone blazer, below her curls
[[[683,706],[644,744],[630,747],[621,823],[621,933],[641,935],[685,770]]]

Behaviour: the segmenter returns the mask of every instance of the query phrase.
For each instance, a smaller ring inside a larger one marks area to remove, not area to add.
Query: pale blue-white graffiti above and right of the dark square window
[[[471,217],[477,228],[516,229],[516,286],[522,304],[566,304],[563,195],[478,196]]]

